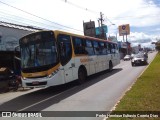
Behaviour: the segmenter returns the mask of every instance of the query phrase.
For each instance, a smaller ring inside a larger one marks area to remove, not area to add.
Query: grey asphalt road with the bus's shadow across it
[[[155,55],[156,52],[149,53],[149,62],[153,60]],[[81,112],[82,116],[84,111],[110,111],[114,109],[117,102],[146,67],[132,67],[130,61],[121,61],[112,72],[105,71],[90,76],[80,86],[72,82],[47,89],[4,93],[0,95],[0,111],[77,111],[69,112],[73,116],[76,116],[79,111],[83,111]],[[48,112],[48,114],[52,116],[54,113]],[[63,116],[64,112],[59,114]],[[53,120],[53,118],[45,119]],[[55,117],[54,119],[102,120],[103,117]]]

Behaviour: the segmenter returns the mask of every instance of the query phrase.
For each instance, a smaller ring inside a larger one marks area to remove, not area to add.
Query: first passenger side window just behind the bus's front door
[[[84,40],[78,37],[72,37],[75,54],[86,54]]]

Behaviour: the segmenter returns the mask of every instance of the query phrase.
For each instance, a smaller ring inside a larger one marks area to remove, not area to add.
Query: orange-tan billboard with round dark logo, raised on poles
[[[119,36],[129,35],[130,34],[130,26],[129,26],[129,24],[120,25],[118,28],[119,28]]]

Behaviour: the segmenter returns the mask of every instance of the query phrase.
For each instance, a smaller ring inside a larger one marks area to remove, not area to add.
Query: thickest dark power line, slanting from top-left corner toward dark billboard
[[[56,24],[56,25],[59,25],[59,26],[65,27],[65,28],[69,28],[69,29],[72,29],[72,30],[75,30],[75,31],[80,31],[80,32],[82,32],[81,30],[78,30],[78,29],[75,29],[75,28],[72,28],[72,27],[68,27],[68,26],[61,25],[61,24],[59,24],[59,23],[50,21],[50,20],[48,20],[48,19],[45,19],[45,18],[42,18],[42,17],[37,16],[37,15],[35,15],[35,14],[29,13],[29,12],[27,12],[27,11],[24,11],[24,10],[22,10],[22,9],[19,9],[19,8],[17,8],[17,7],[14,7],[14,6],[12,6],[12,5],[9,5],[9,4],[7,4],[7,3],[4,3],[4,2],[2,2],[2,1],[0,1],[0,3],[2,3],[2,4],[4,4],[4,5],[7,5],[7,6],[9,6],[9,7],[12,7],[12,8],[14,8],[14,9],[17,9],[17,10],[23,12],[23,13],[28,14],[28,15],[34,16],[34,17],[36,17],[36,18],[39,18],[39,19],[42,19],[42,20],[45,20],[45,21],[48,21],[48,22],[50,22],[50,23],[54,23],[54,24]]]

